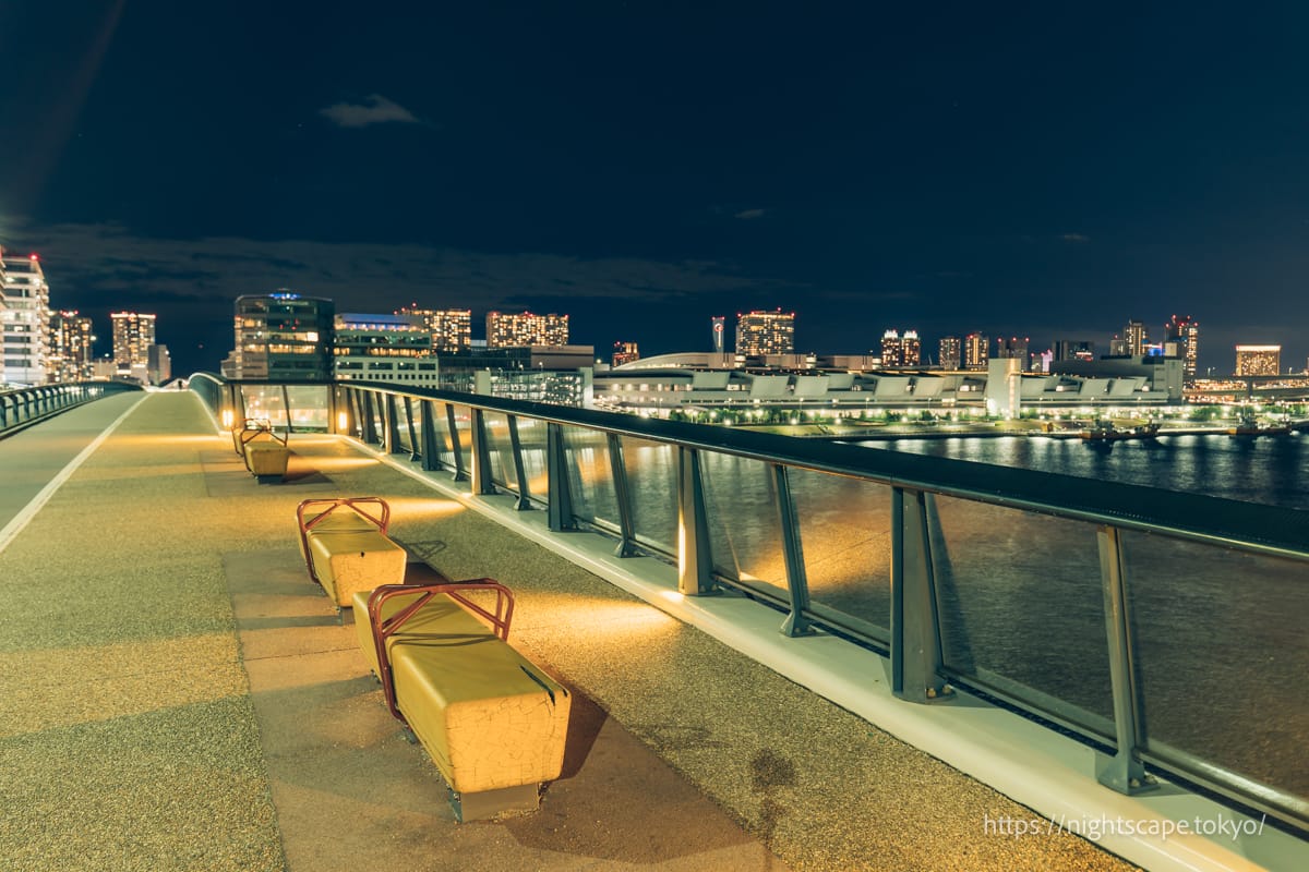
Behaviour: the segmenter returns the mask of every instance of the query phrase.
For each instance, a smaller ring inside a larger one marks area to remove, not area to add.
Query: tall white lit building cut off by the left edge
[[[0,383],[48,380],[50,286],[37,255],[0,251]]]

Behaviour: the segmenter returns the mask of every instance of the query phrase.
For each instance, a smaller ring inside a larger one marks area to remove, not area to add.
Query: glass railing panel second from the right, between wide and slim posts
[[[906,527],[914,523],[906,497]],[[945,667],[1097,736],[1113,736],[1096,527],[935,498]],[[929,514],[931,519],[931,514]]]

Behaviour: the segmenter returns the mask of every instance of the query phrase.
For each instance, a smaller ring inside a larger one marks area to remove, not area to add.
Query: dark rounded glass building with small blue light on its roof
[[[223,374],[250,379],[331,379],[334,315],[332,301],[287,290],[237,297],[236,348],[223,362]]]

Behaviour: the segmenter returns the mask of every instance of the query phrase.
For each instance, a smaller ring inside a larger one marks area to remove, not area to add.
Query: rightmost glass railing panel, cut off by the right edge
[[[1123,535],[1145,746],[1309,797],[1309,563]]]

